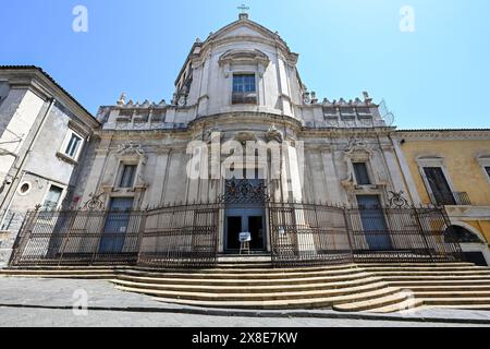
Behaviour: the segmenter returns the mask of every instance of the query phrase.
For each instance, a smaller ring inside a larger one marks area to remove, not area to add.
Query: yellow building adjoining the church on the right
[[[490,265],[490,130],[397,131],[415,204],[445,207],[468,260]]]

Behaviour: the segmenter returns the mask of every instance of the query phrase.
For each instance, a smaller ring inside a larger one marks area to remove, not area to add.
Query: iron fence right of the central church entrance
[[[269,204],[277,266],[345,262],[451,262],[458,243],[444,239],[440,208],[345,208]]]

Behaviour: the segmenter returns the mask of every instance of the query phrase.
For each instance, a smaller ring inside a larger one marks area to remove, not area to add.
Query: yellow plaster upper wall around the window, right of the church
[[[408,163],[420,200],[430,204],[417,164],[420,156],[444,159],[445,169],[456,192],[466,192],[475,206],[490,206],[490,182],[478,163],[479,155],[490,155],[490,140],[430,140],[405,139],[401,145]]]

